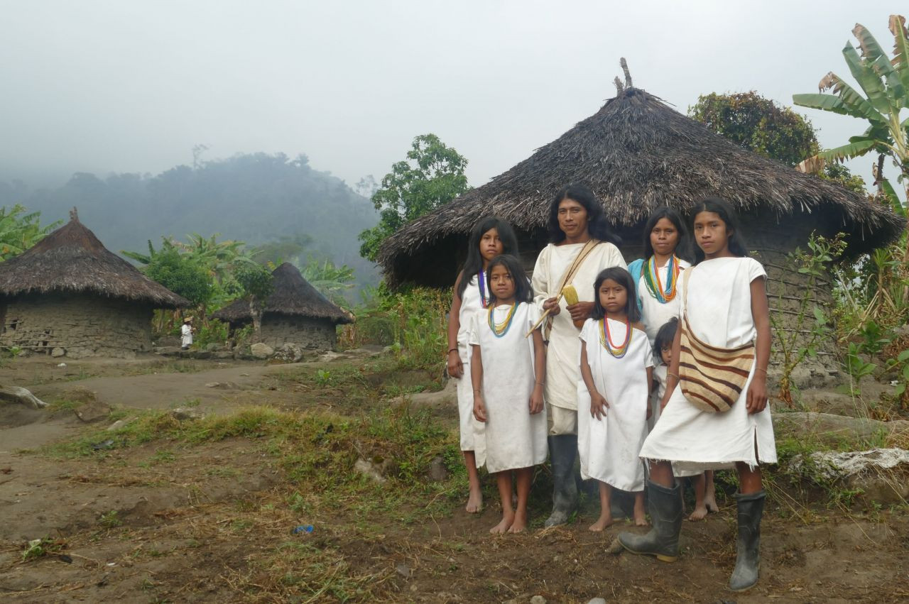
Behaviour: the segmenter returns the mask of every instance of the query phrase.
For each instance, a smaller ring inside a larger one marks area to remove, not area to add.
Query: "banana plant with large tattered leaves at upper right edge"
[[[909,30],[902,15],[890,15],[889,26],[894,35],[893,58],[886,54],[874,35],[859,24],[852,31],[858,48],[847,42],[843,49],[849,73],[861,92],[830,72],[818,84],[818,94],[793,95],[794,104],[868,122],[864,133],[850,137],[848,144],[826,149],[800,163],[797,168],[802,172],[818,173],[825,162],[843,162],[877,153],[879,160],[883,157],[893,160],[900,171],[897,180],[909,193],[909,118],[900,119],[902,110],[909,108]],[[875,183],[880,184],[894,212],[905,216],[904,205],[884,178],[883,161],[878,161],[877,167]]]

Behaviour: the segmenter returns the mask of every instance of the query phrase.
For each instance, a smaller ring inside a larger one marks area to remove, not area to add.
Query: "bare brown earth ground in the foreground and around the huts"
[[[345,362],[325,367],[340,371]],[[28,387],[45,401],[91,391],[125,419],[185,404],[206,414],[271,405],[351,416],[366,405],[391,404],[357,398],[327,381],[315,388],[295,377],[301,371],[313,366],[153,358],[67,361],[66,368],[57,368],[49,361],[17,360],[0,368],[0,383]],[[364,375],[370,388],[391,379]],[[215,381],[227,387],[206,386]],[[433,417],[456,430],[451,403],[436,403]],[[786,503],[785,496],[770,503],[762,527],[761,580],[750,592],[733,594],[725,588],[735,556],[731,499],[721,501],[720,513],[706,521],[685,522],[683,556],[663,564],[607,553],[619,531],[635,529],[620,520],[603,534],[590,533],[586,527],[598,511],[591,501],[567,527],[541,530],[549,484],[543,470],[537,473],[543,486],[534,490],[533,529],[493,538],[487,530],[498,510],[488,477],[480,515],[463,510],[462,475],[434,500],[367,513],[356,496],[319,506],[305,484],[288,488],[288,467],[276,463],[267,440],[255,434],[199,443],[153,440],[73,457],[42,449],[112,420],[89,428],[65,406],[55,413],[0,407],[0,599],[909,599],[905,506],[865,513],[823,503],[801,507]],[[315,529],[291,535],[298,524]],[[39,538],[48,539],[45,555],[25,560],[25,542]],[[275,574],[282,561],[286,571]],[[295,575],[295,567],[311,574]]]

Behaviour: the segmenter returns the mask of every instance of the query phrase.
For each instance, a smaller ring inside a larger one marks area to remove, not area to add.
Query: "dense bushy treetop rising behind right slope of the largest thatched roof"
[[[702,94],[688,115],[735,144],[787,165],[818,150],[811,122],[754,91]]]

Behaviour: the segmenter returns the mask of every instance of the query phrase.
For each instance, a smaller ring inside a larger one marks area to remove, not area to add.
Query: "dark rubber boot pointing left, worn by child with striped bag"
[[[619,533],[619,543],[633,554],[656,556],[663,562],[674,562],[679,556],[679,532],[682,531],[681,485],[666,489],[647,480],[647,508],[654,528],[646,535]]]

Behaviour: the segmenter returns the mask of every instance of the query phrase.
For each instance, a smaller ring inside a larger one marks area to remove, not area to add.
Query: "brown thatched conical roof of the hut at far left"
[[[0,262],[0,295],[90,293],[155,308],[190,303],[110,252],[75,213],[70,221],[25,252]]]

